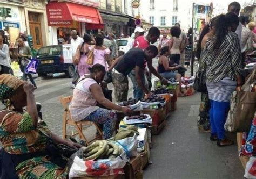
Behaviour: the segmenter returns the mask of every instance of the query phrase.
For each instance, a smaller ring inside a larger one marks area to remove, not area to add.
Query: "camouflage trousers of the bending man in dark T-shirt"
[[[112,72],[112,83],[114,86],[114,96],[116,97],[116,102],[119,103],[127,101],[129,89],[128,77]]]

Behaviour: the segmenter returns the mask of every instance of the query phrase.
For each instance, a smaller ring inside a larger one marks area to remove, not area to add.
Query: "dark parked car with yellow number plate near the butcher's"
[[[52,45],[38,50],[36,60],[38,76],[50,73],[64,72],[68,77],[73,77],[75,67],[72,62],[72,48],[70,44]]]

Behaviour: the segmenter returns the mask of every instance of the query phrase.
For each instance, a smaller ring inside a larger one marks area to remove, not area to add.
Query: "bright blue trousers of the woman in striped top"
[[[230,110],[230,103],[218,102],[210,100],[210,123],[211,123],[211,134],[217,135],[219,140],[225,139],[224,124]]]

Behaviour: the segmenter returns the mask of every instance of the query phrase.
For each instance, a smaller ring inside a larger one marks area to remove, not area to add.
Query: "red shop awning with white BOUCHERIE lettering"
[[[97,8],[69,2],[49,2],[46,5],[48,25],[72,25],[72,21],[103,24]]]

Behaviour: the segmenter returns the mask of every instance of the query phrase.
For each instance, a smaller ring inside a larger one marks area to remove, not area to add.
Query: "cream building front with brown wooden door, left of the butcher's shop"
[[[38,49],[49,44],[45,0],[2,0],[0,2],[0,28],[15,46],[18,33],[31,35],[33,47]]]

